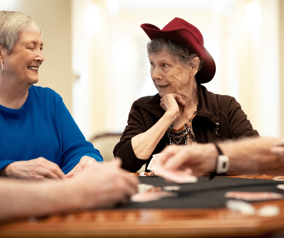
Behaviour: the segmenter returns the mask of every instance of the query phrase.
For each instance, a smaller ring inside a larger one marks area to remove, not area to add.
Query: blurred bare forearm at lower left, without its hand
[[[39,216],[79,208],[81,195],[73,182],[0,181],[0,220],[10,217]],[[77,196],[74,196],[74,195]]]

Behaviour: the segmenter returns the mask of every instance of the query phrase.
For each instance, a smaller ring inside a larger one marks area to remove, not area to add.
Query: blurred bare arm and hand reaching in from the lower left
[[[137,192],[138,179],[120,168],[117,160],[105,165],[90,162],[72,179],[44,182],[0,180],[0,220],[39,216],[58,211],[113,207]]]

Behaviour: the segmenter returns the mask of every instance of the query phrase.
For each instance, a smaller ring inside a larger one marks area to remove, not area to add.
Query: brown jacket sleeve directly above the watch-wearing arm
[[[231,100],[228,115],[231,139],[259,136],[259,133],[253,129],[247,115],[235,98]]]

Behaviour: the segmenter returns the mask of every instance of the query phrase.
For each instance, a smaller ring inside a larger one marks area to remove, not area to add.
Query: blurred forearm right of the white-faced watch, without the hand
[[[283,139],[253,138],[219,143],[229,156],[229,173],[233,174],[284,174],[282,158],[271,153],[273,145]]]

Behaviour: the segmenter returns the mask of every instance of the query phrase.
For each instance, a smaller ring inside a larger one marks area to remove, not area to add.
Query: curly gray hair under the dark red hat
[[[198,57],[196,54],[192,53],[189,48],[180,45],[172,40],[165,37],[156,37],[150,40],[147,44],[148,55],[154,55],[160,53],[161,51],[166,51],[171,55],[171,59],[176,62],[183,64],[184,66],[190,65],[192,68],[197,66],[197,62],[193,59]],[[203,60],[198,57],[199,66],[198,71],[202,68]]]

